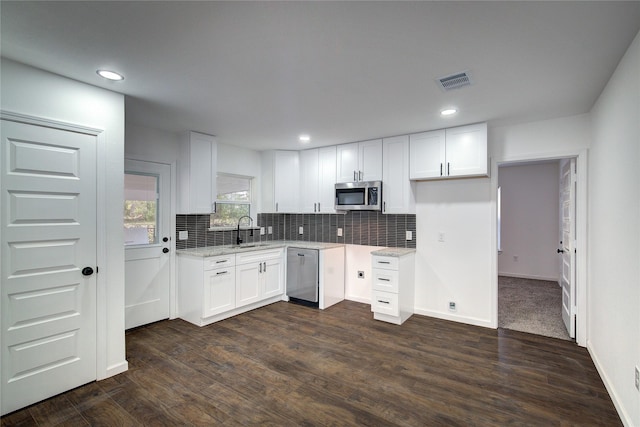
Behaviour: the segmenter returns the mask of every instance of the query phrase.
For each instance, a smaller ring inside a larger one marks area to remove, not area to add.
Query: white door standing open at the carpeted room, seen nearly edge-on
[[[576,160],[562,163],[560,177],[560,207],[562,240],[562,320],[571,338],[576,337]]]

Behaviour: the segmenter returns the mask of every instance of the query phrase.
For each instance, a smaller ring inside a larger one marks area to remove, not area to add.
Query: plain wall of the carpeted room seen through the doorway
[[[502,188],[501,249],[498,274],[558,280],[559,161],[499,169]]]

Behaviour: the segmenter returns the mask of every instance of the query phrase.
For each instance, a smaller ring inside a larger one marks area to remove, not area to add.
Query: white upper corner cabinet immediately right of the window
[[[262,212],[297,213],[300,195],[298,151],[262,153]]]

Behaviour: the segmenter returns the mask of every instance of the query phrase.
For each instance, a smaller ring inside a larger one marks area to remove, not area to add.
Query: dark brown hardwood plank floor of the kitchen
[[[584,348],[344,301],[127,332],[129,371],[2,425],[622,425]]]

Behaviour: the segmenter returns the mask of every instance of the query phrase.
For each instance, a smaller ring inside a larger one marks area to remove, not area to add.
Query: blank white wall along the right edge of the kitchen
[[[626,425],[640,426],[640,34],[592,110],[589,339]]]

